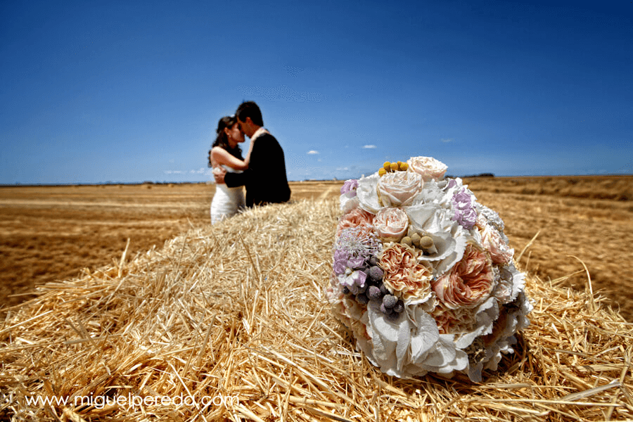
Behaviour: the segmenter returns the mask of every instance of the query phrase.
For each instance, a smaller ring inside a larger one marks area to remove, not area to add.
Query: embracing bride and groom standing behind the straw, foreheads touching
[[[284,203],[290,199],[286,162],[279,142],[264,129],[262,112],[256,103],[245,101],[235,115],[222,117],[210,151],[215,177],[211,202],[211,223],[235,215],[244,207]],[[246,158],[239,143],[250,138]],[[246,196],[244,196],[246,188]]]

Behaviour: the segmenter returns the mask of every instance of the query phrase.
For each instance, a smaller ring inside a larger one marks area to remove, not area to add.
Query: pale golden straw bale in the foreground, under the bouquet
[[[42,286],[0,325],[0,416],[633,418],[633,324],[589,290],[533,276],[525,287],[532,325],[483,383],[381,373],[356,352],[324,298],[337,219],[333,200],[256,208]]]

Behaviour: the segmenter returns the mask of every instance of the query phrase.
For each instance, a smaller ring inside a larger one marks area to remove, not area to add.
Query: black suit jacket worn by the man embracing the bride
[[[226,173],[229,188],[246,187],[246,206],[284,203],[290,199],[286,177],[286,161],[281,145],[271,134],[257,136],[250,153],[248,169],[242,173]]]

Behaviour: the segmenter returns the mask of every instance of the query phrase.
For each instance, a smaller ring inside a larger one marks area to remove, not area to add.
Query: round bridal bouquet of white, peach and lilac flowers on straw
[[[446,170],[414,157],[345,182],[326,296],[383,372],[479,382],[532,306],[504,222]]]

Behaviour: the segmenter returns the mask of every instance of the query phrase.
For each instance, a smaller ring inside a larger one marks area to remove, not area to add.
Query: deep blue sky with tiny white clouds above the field
[[[209,180],[243,100],[290,180],[631,174],[632,45],[631,1],[2,1],[0,184]]]

